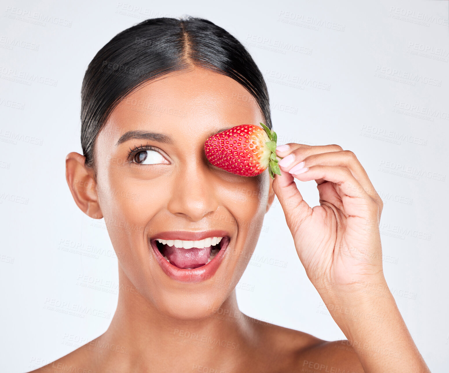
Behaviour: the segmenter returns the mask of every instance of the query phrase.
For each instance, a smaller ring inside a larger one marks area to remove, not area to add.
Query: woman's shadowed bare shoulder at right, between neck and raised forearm
[[[311,334],[282,326],[259,323],[256,328],[264,356],[272,371],[364,373],[357,353],[348,341],[328,342]]]

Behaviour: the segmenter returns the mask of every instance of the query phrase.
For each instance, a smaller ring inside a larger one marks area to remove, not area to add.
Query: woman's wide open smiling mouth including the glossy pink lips
[[[229,241],[225,231],[172,231],[150,239],[163,271],[176,280],[189,282],[206,280],[215,273]]]

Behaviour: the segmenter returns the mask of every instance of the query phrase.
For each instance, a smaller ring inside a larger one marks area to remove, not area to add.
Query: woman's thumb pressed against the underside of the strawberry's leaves
[[[288,172],[282,172],[282,175],[276,174],[273,181],[273,190],[284,210],[287,225],[293,234],[293,231],[296,231],[304,219],[312,215],[312,209],[303,200],[293,175]]]

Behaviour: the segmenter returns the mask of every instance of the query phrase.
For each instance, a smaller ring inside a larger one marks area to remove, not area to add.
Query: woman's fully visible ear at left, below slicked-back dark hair
[[[93,170],[85,166],[86,157],[72,152],[66,156],[66,180],[78,207],[94,219],[103,218],[98,204],[97,182]]]

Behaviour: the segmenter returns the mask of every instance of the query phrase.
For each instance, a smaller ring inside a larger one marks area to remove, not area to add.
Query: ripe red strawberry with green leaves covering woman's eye
[[[204,151],[211,164],[241,176],[256,176],[267,167],[281,174],[276,158],[276,132],[265,124],[262,127],[242,124],[216,133],[206,140]]]

